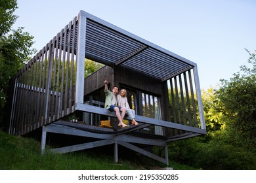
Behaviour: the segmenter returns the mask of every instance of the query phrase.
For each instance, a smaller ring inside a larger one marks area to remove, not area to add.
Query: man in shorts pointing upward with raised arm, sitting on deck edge
[[[105,80],[104,84],[105,84],[104,92],[106,95],[105,108],[108,108],[108,110],[110,110],[111,112],[113,112],[113,111],[116,112],[117,119],[119,120],[118,126],[126,127],[127,125],[125,125],[123,123],[123,118],[125,116],[126,109],[117,107],[116,95],[119,92],[119,88],[117,86],[114,86],[112,88],[112,92],[110,92],[110,90],[108,90],[108,80]],[[120,114],[120,112],[121,112],[121,114]]]

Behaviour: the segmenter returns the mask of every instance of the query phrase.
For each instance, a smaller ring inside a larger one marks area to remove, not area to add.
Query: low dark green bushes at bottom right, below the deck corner
[[[169,157],[172,161],[196,169],[256,169],[255,154],[229,144],[225,134],[218,132],[211,137],[211,141],[203,141],[202,137],[194,137],[173,142],[169,144]]]

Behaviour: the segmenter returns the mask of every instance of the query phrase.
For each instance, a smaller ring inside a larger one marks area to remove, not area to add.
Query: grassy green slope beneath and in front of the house
[[[129,152],[131,153],[131,152]],[[1,170],[135,170],[165,167],[145,156],[133,152],[133,156],[122,156],[114,163],[114,155],[97,150],[56,154],[46,149],[41,155],[41,142],[35,139],[16,137],[0,130]],[[126,158],[125,158],[126,157]],[[170,162],[176,170],[193,169]]]

